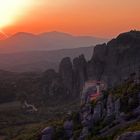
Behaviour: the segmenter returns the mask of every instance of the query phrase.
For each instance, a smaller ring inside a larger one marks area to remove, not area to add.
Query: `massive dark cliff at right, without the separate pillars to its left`
[[[139,47],[139,31],[120,34],[107,44],[96,46],[88,63],[88,78],[103,80],[109,86],[114,86],[131,73],[139,76]]]

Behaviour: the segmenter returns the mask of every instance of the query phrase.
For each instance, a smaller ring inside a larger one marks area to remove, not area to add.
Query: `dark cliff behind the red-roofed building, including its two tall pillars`
[[[107,44],[97,45],[90,61],[84,55],[66,57],[59,66],[62,83],[68,93],[79,95],[87,80],[102,80],[108,87],[121,84],[131,74],[140,77],[140,31],[120,34]]]

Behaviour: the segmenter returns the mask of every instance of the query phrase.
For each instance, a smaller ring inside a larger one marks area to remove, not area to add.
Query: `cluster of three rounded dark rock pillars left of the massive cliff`
[[[47,70],[41,80],[44,99],[79,97],[87,80],[87,62],[84,55],[75,58],[73,63],[69,57],[63,58],[59,65],[59,72]]]

